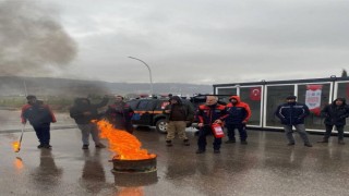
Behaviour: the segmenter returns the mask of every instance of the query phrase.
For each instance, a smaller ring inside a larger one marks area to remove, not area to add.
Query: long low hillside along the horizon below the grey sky
[[[26,89],[25,89],[26,87]],[[189,95],[210,94],[213,86],[177,83],[155,83],[154,94]],[[146,83],[107,83],[52,77],[0,76],[0,96],[27,94],[45,96],[87,96],[101,94],[149,94]]]

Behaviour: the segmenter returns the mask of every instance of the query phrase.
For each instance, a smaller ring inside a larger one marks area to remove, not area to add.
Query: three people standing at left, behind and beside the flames
[[[55,114],[49,106],[37,100],[36,96],[29,95],[26,99],[27,105],[22,107],[22,123],[26,124],[26,122],[29,121],[39,142],[38,148],[51,148],[50,123],[56,122]],[[82,133],[82,149],[88,149],[89,135],[92,135],[96,148],[106,147],[99,140],[98,130],[93,120],[105,118],[112,123],[116,128],[125,130],[132,134],[133,126],[131,118],[133,110],[131,107],[123,101],[122,96],[116,96],[115,102],[108,106],[106,112],[99,112],[98,109],[106,107],[109,98],[107,96],[105,96],[99,103],[92,103],[88,98],[76,98],[70,108],[70,117],[74,119]]]

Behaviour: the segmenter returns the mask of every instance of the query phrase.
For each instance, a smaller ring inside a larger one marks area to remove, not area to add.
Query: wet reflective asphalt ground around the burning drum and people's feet
[[[52,131],[51,150],[37,149],[35,133],[26,132],[15,154],[11,142],[19,135],[0,134],[1,195],[349,195],[349,144],[339,146],[335,137],[328,145],[289,147],[282,133],[249,131],[249,145],[222,144],[217,155],[209,137],[206,152],[196,155],[193,133],[191,146],[174,140],[166,147],[165,135],[139,130],[143,147],[158,156],[157,171],[113,174],[112,154],[82,150],[76,128]]]

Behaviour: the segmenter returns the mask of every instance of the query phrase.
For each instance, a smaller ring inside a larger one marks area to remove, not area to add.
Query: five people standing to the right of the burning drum
[[[306,105],[297,102],[296,96],[288,96],[286,102],[278,106],[275,115],[280,120],[284,125],[286,138],[288,139],[288,146],[296,145],[293,137],[293,127],[299,133],[305,147],[312,147],[308,133],[305,132],[304,121],[310,114],[310,110]],[[185,136],[184,123],[182,126],[173,126],[176,121],[181,119],[182,122],[190,121],[192,112],[179,112],[170,110],[176,106],[182,105],[180,98],[176,97],[176,100],[170,99],[170,106],[166,108],[166,113],[169,114],[169,126],[167,135],[167,146],[172,146],[171,140],[174,138],[174,133],[179,133],[179,137],[184,139],[185,146],[189,146],[188,137]],[[168,110],[169,109],[169,110]],[[184,110],[183,110],[184,111]],[[182,114],[182,117],[180,117]],[[322,117],[325,118],[326,132],[322,140],[317,143],[328,143],[328,138],[332,134],[334,126],[338,131],[338,144],[344,145],[344,127],[346,125],[346,118],[349,117],[349,106],[346,103],[345,98],[337,98],[330,105],[327,105],[321,111]],[[176,118],[174,118],[176,117]],[[206,102],[198,106],[195,117],[198,120],[198,138],[196,154],[204,154],[206,151],[206,136],[213,133],[213,125],[219,124],[221,127],[227,128],[228,140],[226,144],[236,143],[234,130],[239,131],[240,143],[246,145],[246,123],[251,118],[251,109],[248,103],[240,100],[239,96],[231,96],[229,102],[224,106],[218,103],[216,96],[207,96]],[[215,154],[220,152],[221,137],[214,136],[213,148]]]

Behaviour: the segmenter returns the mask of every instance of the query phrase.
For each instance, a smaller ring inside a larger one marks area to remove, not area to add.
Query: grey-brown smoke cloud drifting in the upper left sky
[[[67,66],[76,44],[58,21],[57,10],[35,1],[0,1],[0,75],[36,76]]]

